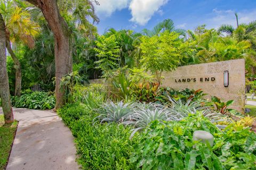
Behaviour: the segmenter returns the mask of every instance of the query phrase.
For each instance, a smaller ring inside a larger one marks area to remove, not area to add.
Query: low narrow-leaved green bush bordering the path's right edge
[[[134,169],[129,159],[138,140],[136,135],[129,139],[129,127],[116,123],[92,125],[98,114],[78,103],[66,105],[58,114],[75,137],[78,163],[84,169]]]

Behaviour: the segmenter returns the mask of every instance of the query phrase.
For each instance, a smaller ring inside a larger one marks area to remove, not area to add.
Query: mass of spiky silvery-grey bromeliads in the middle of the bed
[[[202,114],[209,118],[212,123],[216,124],[219,129],[226,127],[226,125],[218,124],[219,122],[231,122],[224,120],[222,114],[210,111],[209,107],[202,106],[201,103],[197,101],[188,100],[187,103],[183,104],[181,100],[175,101],[170,97],[169,99],[172,102],[172,105],[169,105],[169,107],[156,103],[124,104],[123,101],[121,101],[115,104],[110,101],[110,103],[100,107],[98,110],[100,115],[94,118],[93,122],[117,122],[132,125],[134,129],[132,130],[131,137],[135,132],[147,128],[152,121],[181,121],[189,114],[196,114],[198,111],[201,111]]]

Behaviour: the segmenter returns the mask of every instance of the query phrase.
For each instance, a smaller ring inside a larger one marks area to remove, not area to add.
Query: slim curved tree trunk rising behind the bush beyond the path
[[[14,96],[20,96],[21,94],[21,64],[19,58],[14,54],[11,46],[9,32],[5,32],[6,35],[6,48],[10,53],[12,60],[14,62],[14,69],[15,69],[15,91]]]

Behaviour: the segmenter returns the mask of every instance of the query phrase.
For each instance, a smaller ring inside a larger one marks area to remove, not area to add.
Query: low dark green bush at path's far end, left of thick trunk
[[[52,109],[55,106],[55,97],[51,92],[27,90],[20,97],[12,96],[12,106],[25,107],[30,109]]]

